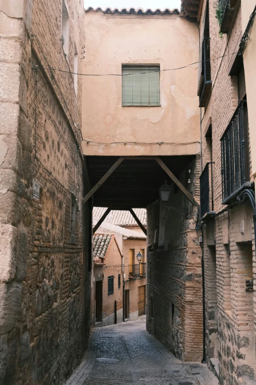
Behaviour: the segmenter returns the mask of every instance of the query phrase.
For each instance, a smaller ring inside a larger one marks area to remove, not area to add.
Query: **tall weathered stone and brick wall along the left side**
[[[81,211],[88,189],[82,181],[81,81],[76,96],[74,75],[48,68],[73,71],[83,7],[67,1],[66,58],[62,1],[11,3],[0,5],[0,384],[57,385],[86,348],[91,257],[83,229],[91,225]]]

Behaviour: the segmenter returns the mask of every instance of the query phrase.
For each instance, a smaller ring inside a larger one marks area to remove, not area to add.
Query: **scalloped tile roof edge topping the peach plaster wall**
[[[118,8],[105,8],[105,9],[102,9],[101,7],[98,7],[98,8],[92,8],[92,7],[89,7],[87,9],[84,10],[85,12],[89,12],[89,11],[93,11],[93,12],[99,12],[101,11],[102,13],[110,13],[110,14],[118,14],[118,15],[123,15],[123,14],[126,14],[126,15],[179,15],[179,9],[175,8],[175,9],[169,9],[169,8],[165,8],[163,11],[159,8],[156,8],[156,9],[146,9],[144,11],[143,8],[122,8],[122,9],[118,9]]]

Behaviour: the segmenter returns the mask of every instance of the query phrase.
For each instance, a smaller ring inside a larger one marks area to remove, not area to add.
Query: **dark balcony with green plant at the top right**
[[[239,3],[239,0],[219,0],[217,11],[222,33],[230,31]]]

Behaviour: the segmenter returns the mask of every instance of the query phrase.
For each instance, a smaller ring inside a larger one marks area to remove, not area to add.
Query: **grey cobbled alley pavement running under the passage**
[[[206,364],[183,363],[138,321],[99,327],[66,385],[218,385]]]

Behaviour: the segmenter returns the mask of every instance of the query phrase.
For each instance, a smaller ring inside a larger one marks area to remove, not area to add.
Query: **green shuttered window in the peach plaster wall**
[[[159,66],[123,65],[122,105],[159,106]]]

